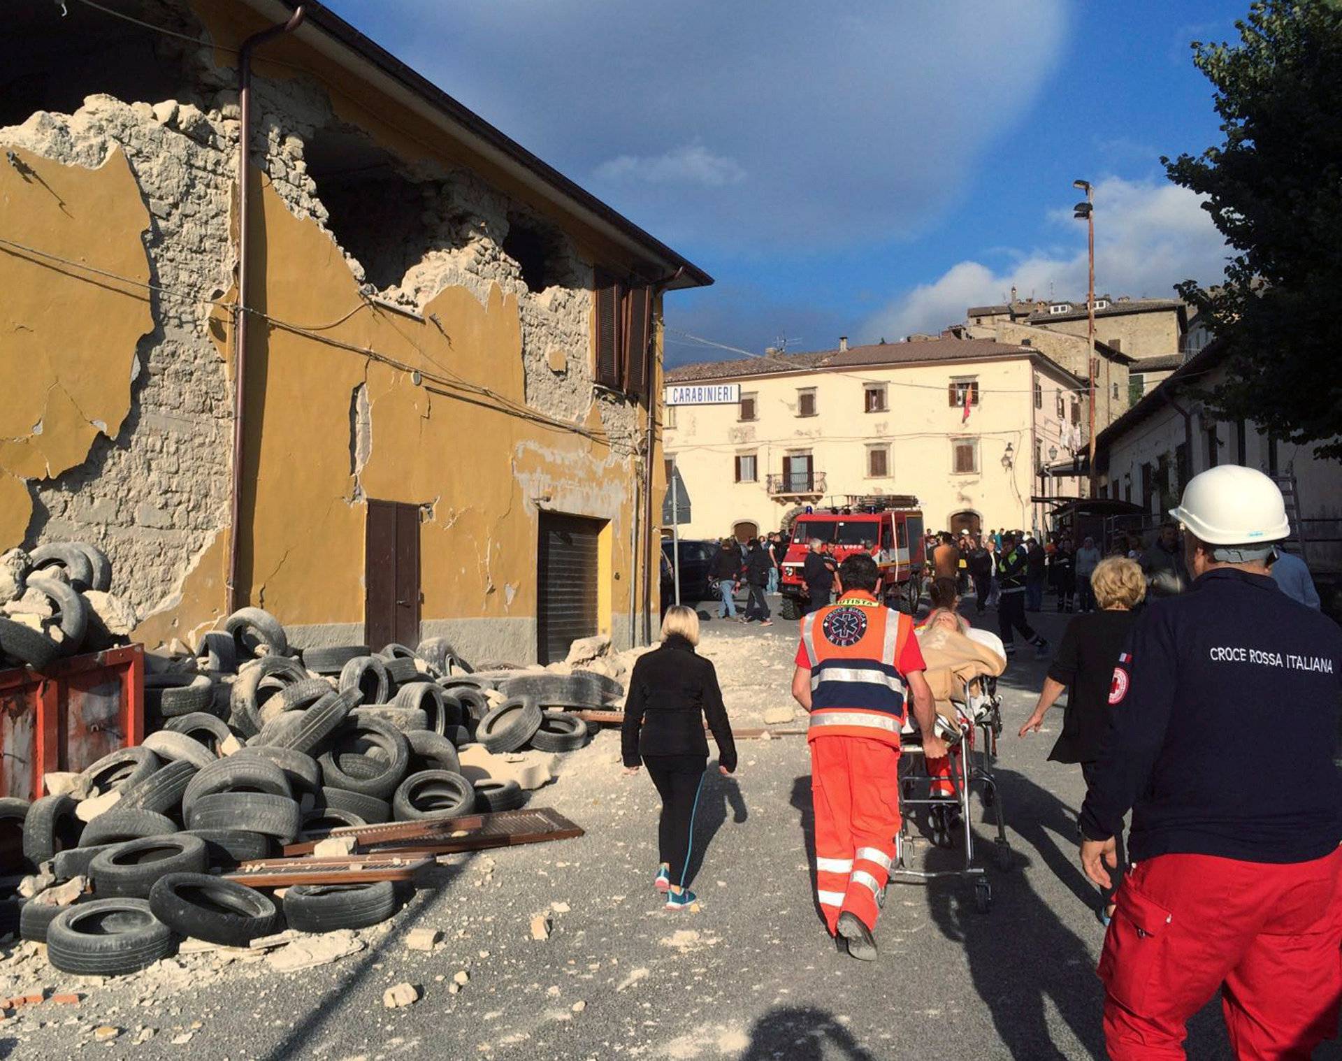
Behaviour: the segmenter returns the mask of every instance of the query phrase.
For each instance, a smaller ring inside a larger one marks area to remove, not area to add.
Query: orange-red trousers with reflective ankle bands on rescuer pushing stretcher
[[[844,911],[876,927],[899,833],[899,748],[862,736],[811,742],[816,892],[829,935]]]

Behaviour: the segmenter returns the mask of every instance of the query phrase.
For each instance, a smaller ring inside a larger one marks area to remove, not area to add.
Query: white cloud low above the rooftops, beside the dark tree
[[[1173,298],[1173,286],[1221,276],[1225,241],[1202,197],[1169,182],[1110,177],[1095,185],[1095,290],[1134,298]],[[1047,216],[1056,244],[1013,254],[1005,268],[960,262],[935,280],[900,294],[862,327],[864,339],[937,331],[965,319],[969,306],[1031,295],[1086,296],[1086,228],[1070,209]],[[1068,231],[1070,229],[1070,231]],[[1063,249],[1063,239],[1067,247]],[[1078,249],[1074,249],[1078,248]]]

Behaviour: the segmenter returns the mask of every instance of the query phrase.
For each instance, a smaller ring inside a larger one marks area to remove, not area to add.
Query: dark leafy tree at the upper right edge
[[[1227,418],[1342,456],[1342,0],[1260,0],[1237,44],[1193,44],[1225,142],[1162,158],[1233,255],[1221,284],[1178,284],[1228,345]]]

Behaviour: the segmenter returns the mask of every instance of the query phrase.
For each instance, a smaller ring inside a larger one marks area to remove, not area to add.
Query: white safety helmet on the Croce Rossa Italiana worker
[[[1276,483],[1239,464],[1221,464],[1194,475],[1170,515],[1208,545],[1266,546],[1291,535]]]

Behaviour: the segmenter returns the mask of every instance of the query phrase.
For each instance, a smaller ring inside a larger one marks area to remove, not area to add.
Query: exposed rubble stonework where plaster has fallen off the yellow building
[[[211,300],[234,279],[229,209],[239,122],[236,97],[225,87],[232,71],[207,67],[204,55],[200,75],[180,93],[196,103],[91,95],[72,114],[40,111],[0,129],[0,144],[67,165],[99,166],[119,146],[149,207],[145,248],[158,288],[150,295],[156,326],[137,350],[130,414],[115,439],[98,439],[82,465],[30,483],[35,515],[24,542],[99,543],[118,573],[115,590],[141,617],[174,606],[184,579],[228,523],[232,388],[209,318]],[[258,78],[256,101],[254,160],[289,209],[334,240],[329,211],[307,172],[307,145],[322,129],[358,130],[345,126],[325,90],[303,78]],[[450,286],[466,287],[482,303],[493,284],[514,294],[526,402],[549,416],[584,421],[595,401],[590,264],[556,232],[552,282],[533,292],[503,241],[510,217],[544,223],[470,172],[419,161],[407,165],[405,174],[419,185],[420,203],[403,205],[419,208],[427,249],[399,283],[376,294],[411,310]],[[364,279],[360,263],[348,254],[346,260]],[[365,286],[365,292],[374,290]],[[488,365],[479,368],[476,381],[487,385]],[[599,409],[613,456],[632,455],[637,406],[603,397]]]

